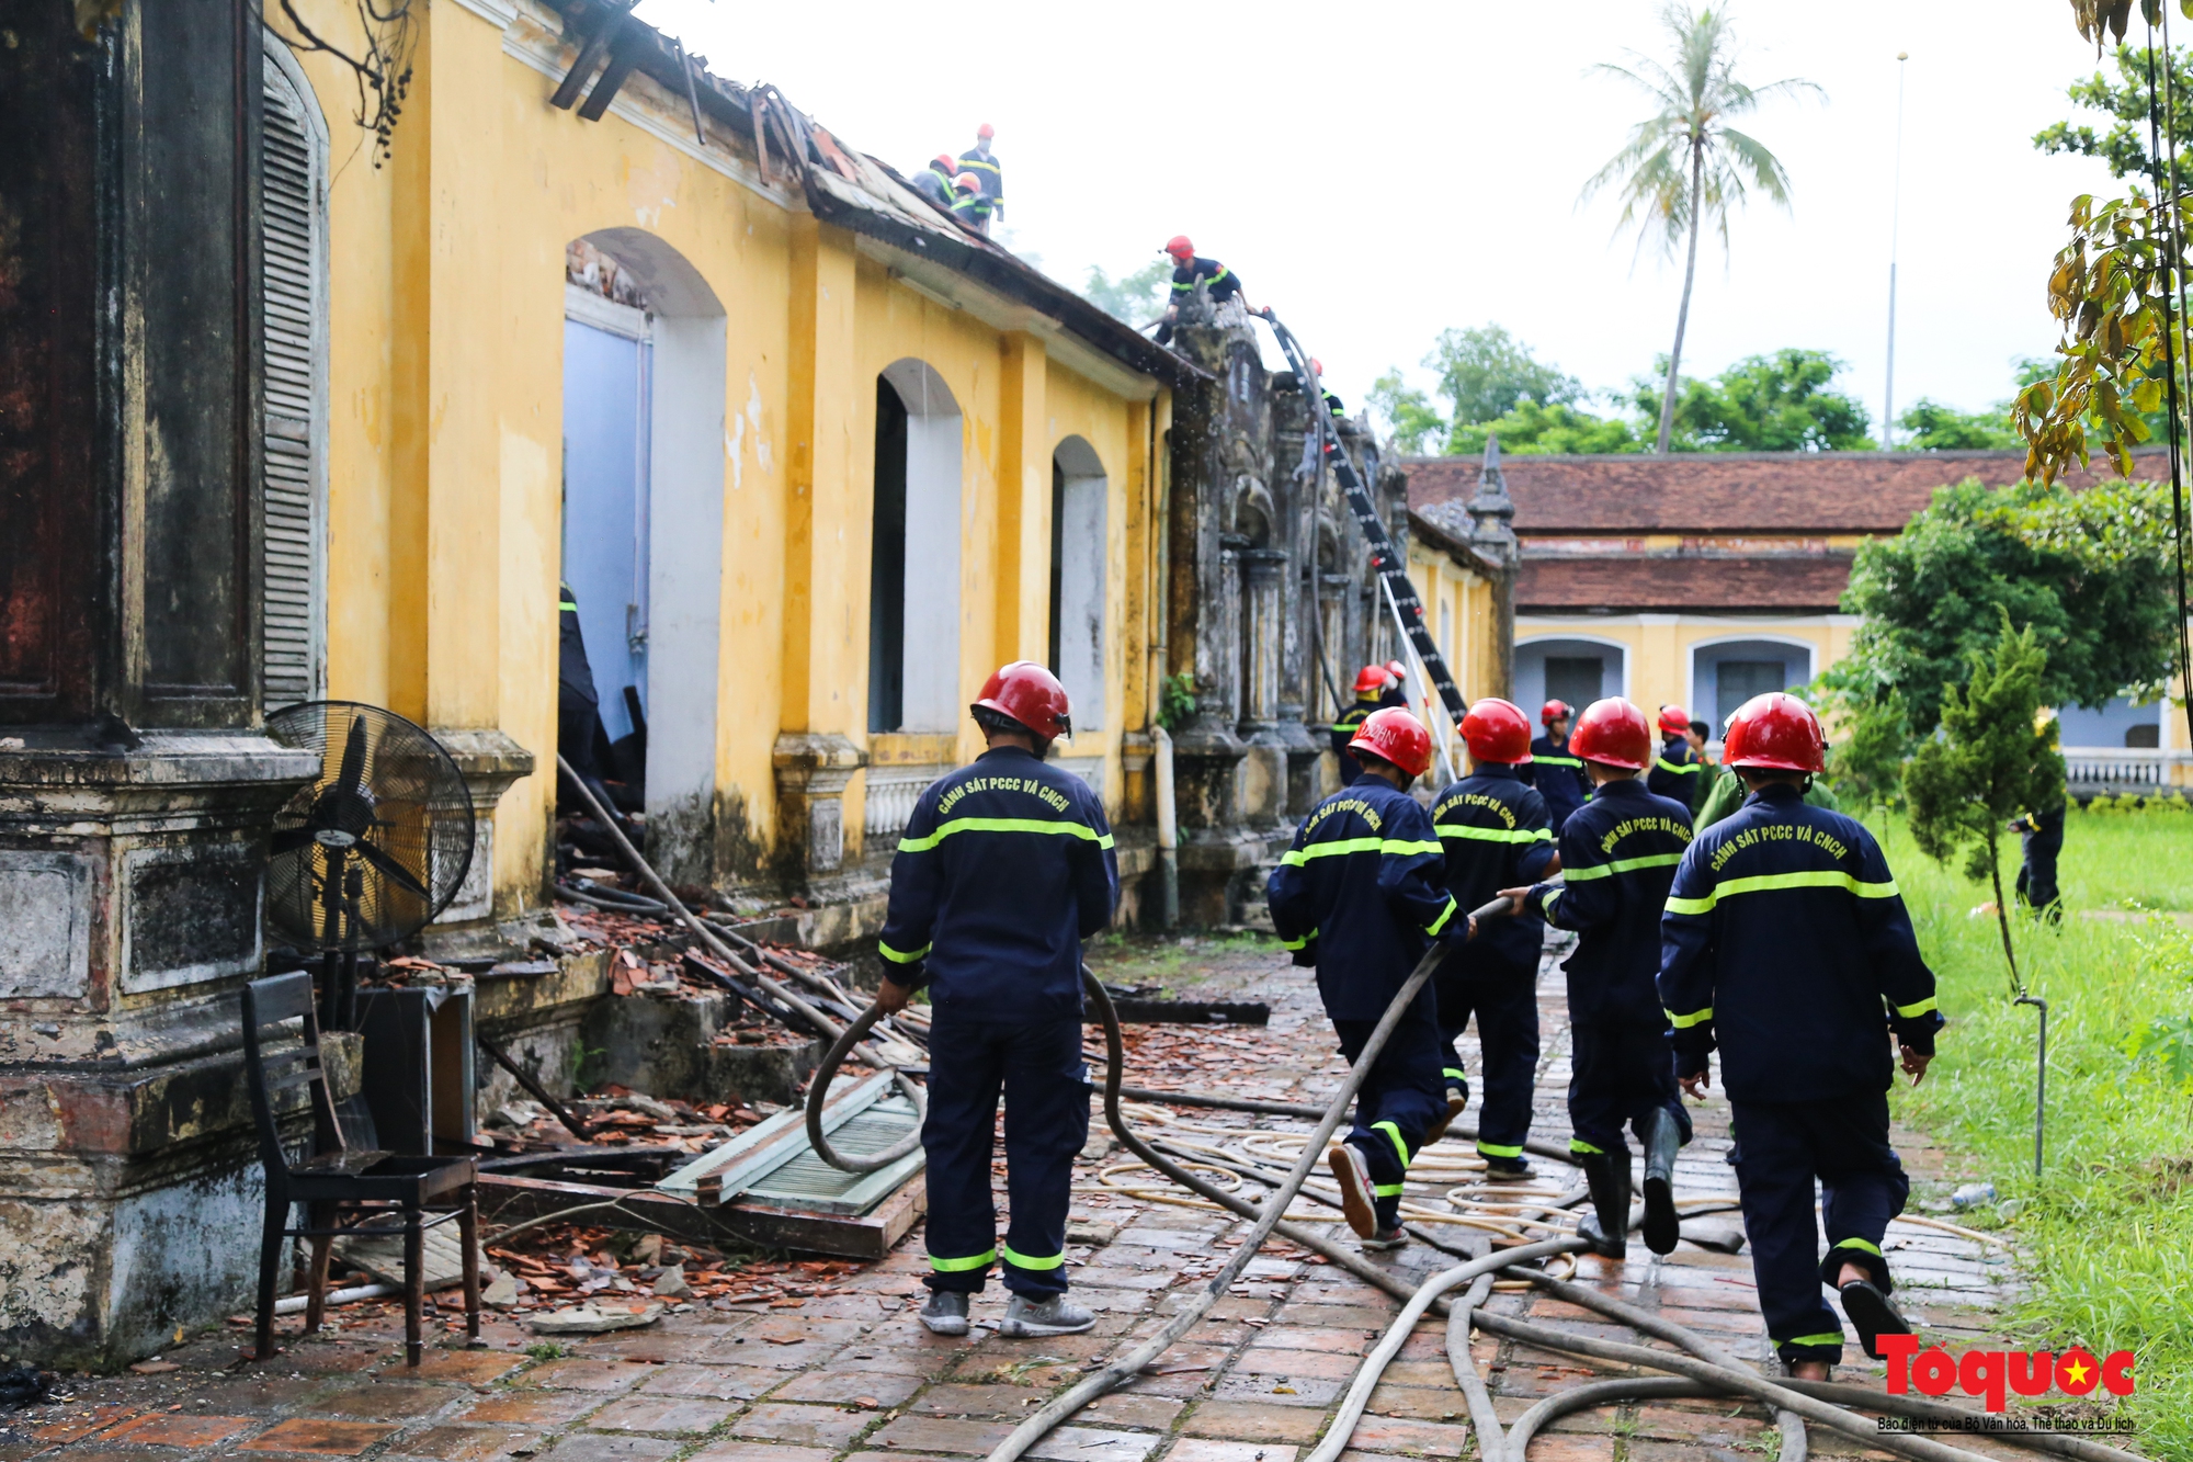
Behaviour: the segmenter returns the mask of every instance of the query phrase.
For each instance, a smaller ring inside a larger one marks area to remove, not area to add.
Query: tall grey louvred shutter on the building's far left
[[[265,705],[322,687],[327,533],[320,244],[325,151],[311,105],[276,57],[265,68]]]

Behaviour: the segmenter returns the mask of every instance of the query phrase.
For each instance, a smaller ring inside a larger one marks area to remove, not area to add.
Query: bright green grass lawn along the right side
[[[1873,819],[1879,834],[1882,819]],[[1897,1115],[1961,1152],[2013,1205],[2026,1297],[2022,1339],[2094,1354],[2136,1350],[2140,1449],[2193,1455],[2193,1093],[2127,1043],[2193,1014],[2193,929],[2092,911],[2193,909],[2193,817],[2070,814],[2059,929],[2015,918],[2018,957],[2048,1001],[2048,1157],[2033,1177],[2035,1012],[2011,1005],[1982,885],[1934,865],[1890,825],[1886,847],[1950,1019]],[[2004,841],[2015,861],[2015,839]],[[2009,871],[2004,871],[2009,885]],[[1980,1227],[1985,1227],[1985,1218]],[[2097,1394],[2097,1398],[2101,1398]]]

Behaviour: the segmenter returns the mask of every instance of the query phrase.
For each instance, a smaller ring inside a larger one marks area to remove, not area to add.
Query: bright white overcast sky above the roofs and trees
[[[1673,336],[1680,261],[1634,257],[1612,202],[1577,195],[1643,114],[1592,72],[1664,53],[1647,0],[1414,4],[748,7],[643,0],[737,81],[774,81],[842,140],[912,171],[998,127],[1007,224],[1055,279],[1132,270],[1173,233],[1237,268],[1353,404],[1447,325],[1500,323],[1592,389]],[[2050,255],[2105,169],[2031,136],[2094,70],[2064,0],[1730,7],[1768,103],[1746,130],[1792,176],[1730,257],[1700,255],[1686,373],[1785,345],[1847,362],[1882,413],[1897,50],[1906,61],[1897,408],[1980,408],[2011,358],[2048,353]]]

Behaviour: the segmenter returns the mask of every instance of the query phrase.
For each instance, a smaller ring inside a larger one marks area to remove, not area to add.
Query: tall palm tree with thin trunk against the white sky
[[[1682,310],[1675,314],[1675,349],[1667,358],[1667,389],[1660,395],[1660,441],[1667,452],[1675,430],[1675,371],[1682,369],[1682,331],[1691,323],[1691,281],[1697,279],[1697,235],[1722,230],[1728,248],[1728,211],[1757,187],[1789,206],[1789,176],[1781,160],[1752,136],[1728,125],[1774,94],[1818,92],[1811,81],[1785,77],[1768,86],[1746,86],[1735,75],[1737,48],[1726,11],[1669,4],[1660,24],[1675,42],[1671,66],[1632,53],[1629,66],[1601,64],[1651,97],[1654,114],[1629,130],[1629,143],[1583,184],[1583,198],[1614,184],[1623,200],[1616,230],[1638,228],[1638,248],[1658,239],[1667,257],[1684,241]]]

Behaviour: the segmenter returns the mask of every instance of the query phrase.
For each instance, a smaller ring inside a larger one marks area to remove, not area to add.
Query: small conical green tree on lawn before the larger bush
[[[2042,720],[2048,652],[2033,626],[2013,630],[2009,612],[1998,612],[2002,634],[1993,652],[1972,650],[1972,678],[1963,689],[1943,689],[1941,733],[1912,753],[1904,797],[1919,852],[1936,863],[1963,852],[1965,876],[1985,876],[1993,887],[2002,959],[2011,968],[2011,990],[2024,994],[2011,948],[2011,909],[2002,898],[2002,834],[2020,812],[2064,801],[2064,755],[2055,720]]]

